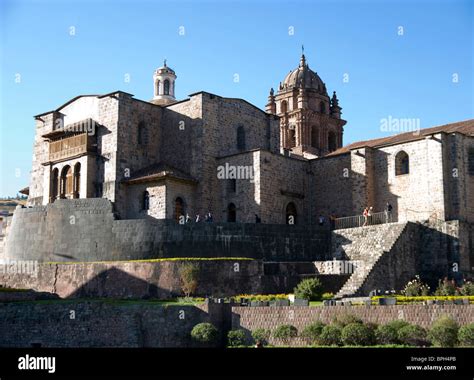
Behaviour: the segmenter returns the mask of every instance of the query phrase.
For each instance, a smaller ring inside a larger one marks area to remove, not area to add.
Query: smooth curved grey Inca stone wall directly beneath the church
[[[163,257],[313,261],[328,251],[329,232],[318,226],[115,220],[108,200],[90,198],[17,209],[5,255],[52,262]]]

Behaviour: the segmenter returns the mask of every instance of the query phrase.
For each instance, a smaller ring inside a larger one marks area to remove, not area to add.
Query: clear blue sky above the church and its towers
[[[345,144],[386,135],[380,119],[389,115],[422,128],[473,118],[472,4],[0,0],[0,196],[29,185],[34,115],[79,94],[148,100],[164,58],[178,98],[205,90],[264,108],[304,44],[310,67],[337,91]]]

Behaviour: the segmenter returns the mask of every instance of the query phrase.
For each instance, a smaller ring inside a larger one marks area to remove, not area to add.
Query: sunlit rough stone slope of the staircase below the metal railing
[[[359,290],[380,258],[390,252],[407,223],[389,223],[333,231],[332,252],[336,259],[355,262],[353,273],[336,298],[358,296]]]

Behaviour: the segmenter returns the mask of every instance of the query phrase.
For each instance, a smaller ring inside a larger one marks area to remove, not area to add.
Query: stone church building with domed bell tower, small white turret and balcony
[[[205,91],[81,95],[35,116],[28,205],[107,198],[119,219],[316,224],[387,202],[398,221],[474,223],[474,120],[343,145],[336,93],[305,56],[265,111]],[[472,239],[471,239],[472,240]]]

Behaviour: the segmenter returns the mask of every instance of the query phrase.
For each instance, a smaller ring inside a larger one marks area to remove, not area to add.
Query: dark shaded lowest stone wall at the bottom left
[[[213,306],[6,303],[0,307],[0,347],[202,347],[190,333],[201,322],[221,326],[222,311]]]

